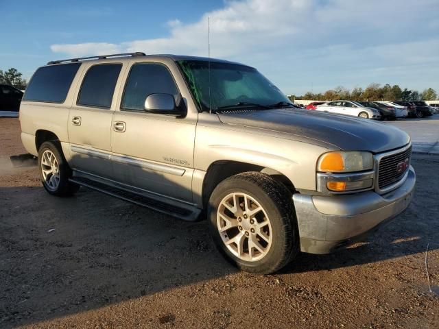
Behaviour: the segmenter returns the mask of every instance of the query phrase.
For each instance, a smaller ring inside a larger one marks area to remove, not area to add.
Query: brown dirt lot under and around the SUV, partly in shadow
[[[0,119],[0,328],[439,328],[439,156],[414,155],[414,201],[366,243],[252,276],[206,222],[86,188],[49,196],[8,161],[19,132]]]

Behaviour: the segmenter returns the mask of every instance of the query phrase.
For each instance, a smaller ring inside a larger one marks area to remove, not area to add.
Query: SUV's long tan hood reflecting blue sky
[[[271,130],[300,138],[328,143],[344,151],[380,153],[410,142],[402,130],[370,119],[327,114],[296,108],[228,112],[218,114],[228,125]]]

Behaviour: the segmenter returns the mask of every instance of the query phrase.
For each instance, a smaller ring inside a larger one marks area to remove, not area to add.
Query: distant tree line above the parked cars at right
[[[353,90],[348,90],[342,86],[338,86],[332,90],[327,90],[324,93],[307,92],[305,95],[290,96],[290,99],[313,99],[316,101],[335,101],[337,99],[346,99],[351,101],[434,101],[438,99],[438,93],[433,88],[427,88],[422,93],[418,90],[401,89],[395,84],[370,84],[366,89],[355,87]]]

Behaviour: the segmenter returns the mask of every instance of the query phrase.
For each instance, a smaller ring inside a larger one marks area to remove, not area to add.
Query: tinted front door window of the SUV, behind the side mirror
[[[121,108],[143,111],[148,95],[164,93],[178,96],[178,89],[167,68],[161,64],[138,63],[131,68]]]

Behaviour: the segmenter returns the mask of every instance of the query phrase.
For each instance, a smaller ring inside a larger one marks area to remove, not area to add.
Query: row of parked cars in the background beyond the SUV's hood
[[[375,120],[423,118],[438,111],[425,101],[313,101],[306,109]]]

